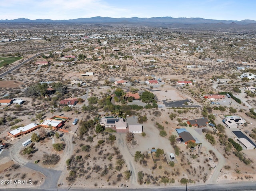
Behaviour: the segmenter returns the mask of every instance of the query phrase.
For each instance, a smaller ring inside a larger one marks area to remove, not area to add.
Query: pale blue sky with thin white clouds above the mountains
[[[255,0],[0,0],[0,20],[171,16],[256,20]]]

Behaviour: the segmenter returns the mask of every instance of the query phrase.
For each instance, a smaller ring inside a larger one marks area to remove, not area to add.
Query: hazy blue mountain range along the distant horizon
[[[255,20],[213,20],[204,18],[172,18],[172,17],[152,17],[152,18],[111,18],[111,17],[92,17],[92,18],[77,18],[70,20],[50,20],[50,19],[36,19],[30,20],[26,18],[18,18],[14,20],[0,20],[0,23],[88,23],[88,24],[102,24],[102,23],[146,23],[146,24],[238,24],[248,25],[256,24]]]

